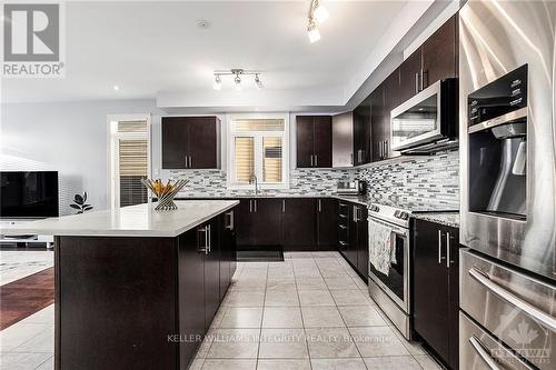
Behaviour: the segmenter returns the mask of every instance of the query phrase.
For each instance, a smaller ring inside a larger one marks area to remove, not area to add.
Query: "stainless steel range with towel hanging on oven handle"
[[[368,218],[369,293],[407,339],[411,338],[410,213],[370,204]]]

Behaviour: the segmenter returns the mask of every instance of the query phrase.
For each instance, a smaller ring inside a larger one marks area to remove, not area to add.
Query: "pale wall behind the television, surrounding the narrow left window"
[[[3,103],[0,170],[56,170],[60,213],[87,191],[96,209],[107,207],[107,114],[155,113],[155,100]]]

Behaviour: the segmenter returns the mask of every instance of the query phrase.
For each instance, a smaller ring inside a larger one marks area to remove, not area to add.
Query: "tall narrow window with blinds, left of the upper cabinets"
[[[149,120],[130,117],[110,122],[110,207],[146,203],[149,176]]]

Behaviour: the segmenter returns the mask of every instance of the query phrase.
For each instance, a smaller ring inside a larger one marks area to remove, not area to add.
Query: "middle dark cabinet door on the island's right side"
[[[218,218],[207,222],[199,241],[208,246],[205,254],[205,328],[208,330],[220,306],[220,233]],[[207,239],[208,238],[208,239]]]

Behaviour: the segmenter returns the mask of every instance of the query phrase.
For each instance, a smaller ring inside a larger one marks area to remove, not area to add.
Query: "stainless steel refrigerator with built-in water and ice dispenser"
[[[556,368],[554,1],[459,12],[460,369]]]

